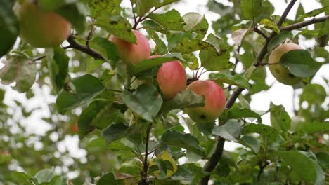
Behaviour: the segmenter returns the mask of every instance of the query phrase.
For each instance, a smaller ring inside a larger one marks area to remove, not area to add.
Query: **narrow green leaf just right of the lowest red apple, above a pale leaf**
[[[220,120],[225,122],[231,118],[257,118],[258,123],[262,123],[262,118],[259,114],[247,108],[240,109],[239,107],[232,107],[224,111]]]

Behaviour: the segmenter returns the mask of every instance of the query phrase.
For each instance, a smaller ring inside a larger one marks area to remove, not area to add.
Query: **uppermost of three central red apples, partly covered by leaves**
[[[115,43],[121,59],[124,62],[131,62],[137,64],[150,56],[150,43],[146,36],[140,32],[132,30],[136,36],[136,44],[129,43],[117,36],[111,35],[109,40]]]

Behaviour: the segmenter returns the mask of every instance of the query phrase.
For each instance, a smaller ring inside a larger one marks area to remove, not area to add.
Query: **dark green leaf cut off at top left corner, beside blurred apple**
[[[17,39],[18,22],[13,14],[12,7],[15,1],[1,1],[0,7],[0,57],[6,55]]]

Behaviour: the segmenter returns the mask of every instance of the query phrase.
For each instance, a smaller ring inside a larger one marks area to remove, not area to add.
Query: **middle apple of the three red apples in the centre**
[[[150,56],[152,59],[160,56]],[[179,91],[186,89],[186,71],[181,62],[174,60],[165,62],[157,71],[157,83],[162,91],[163,99],[170,100],[174,98]]]

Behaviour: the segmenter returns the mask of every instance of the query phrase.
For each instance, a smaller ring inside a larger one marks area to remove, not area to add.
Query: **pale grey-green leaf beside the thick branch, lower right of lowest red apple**
[[[229,120],[225,125],[217,126],[212,130],[212,134],[219,135],[224,139],[238,142],[243,123],[238,120]]]

